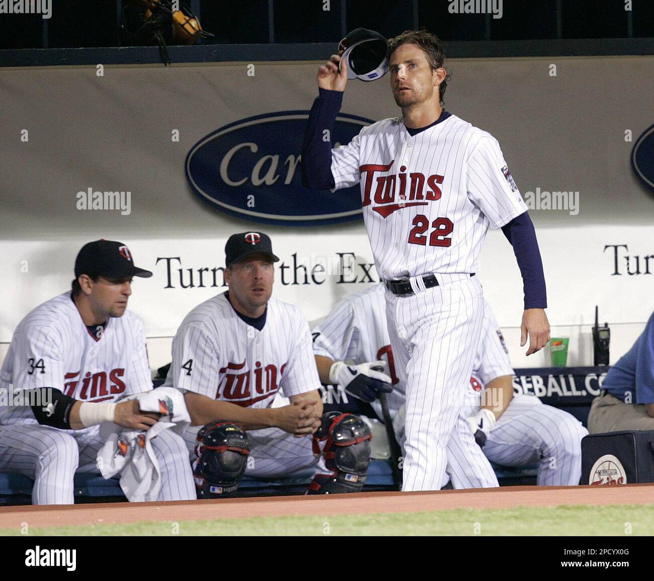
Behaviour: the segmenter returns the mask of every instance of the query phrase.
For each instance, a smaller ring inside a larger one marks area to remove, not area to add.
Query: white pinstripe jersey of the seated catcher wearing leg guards
[[[165,385],[252,408],[267,408],[280,387],[286,397],[318,389],[309,325],[296,306],[271,298],[258,330],[218,294],[182,321]]]

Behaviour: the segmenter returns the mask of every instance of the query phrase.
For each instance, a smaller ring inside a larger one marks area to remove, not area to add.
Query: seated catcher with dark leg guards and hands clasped
[[[233,234],[225,252],[229,290],[186,315],[165,381],[185,392],[198,497],[232,494],[244,473],[307,469],[309,493],[359,491],[370,430],[354,415],[322,414],[309,325],[300,309],[271,298],[279,258],[270,239]],[[280,388],[290,404],[271,408]]]

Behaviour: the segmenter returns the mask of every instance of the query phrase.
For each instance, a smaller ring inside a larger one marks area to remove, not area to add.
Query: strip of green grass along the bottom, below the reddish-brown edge
[[[630,533],[628,533],[630,525]],[[1,535],[20,535],[0,530]],[[654,504],[140,522],[29,529],[29,535],[654,535]]]

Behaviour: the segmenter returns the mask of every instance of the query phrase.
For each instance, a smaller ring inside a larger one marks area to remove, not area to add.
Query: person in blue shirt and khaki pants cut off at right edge
[[[610,368],[588,415],[591,434],[654,430],[654,313],[631,349]]]

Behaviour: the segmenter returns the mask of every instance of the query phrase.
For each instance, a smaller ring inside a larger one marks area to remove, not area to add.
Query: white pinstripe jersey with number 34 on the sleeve
[[[141,319],[125,311],[92,335],[71,293],[28,313],[18,324],[0,371],[0,389],[54,387],[85,402],[116,401],[152,389]],[[0,425],[37,423],[28,406],[0,406]]]

